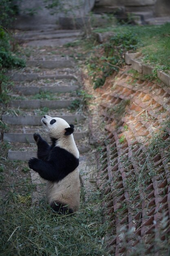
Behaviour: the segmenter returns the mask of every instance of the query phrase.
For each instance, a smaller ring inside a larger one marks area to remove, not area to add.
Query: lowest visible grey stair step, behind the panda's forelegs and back
[[[90,147],[81,146],[78,147],[78,150],[80,154],[83,154],[88,152],[90,150]],[[28,161],[31,157],[37,157],[37,151],[8,151],[7,159],[11,161]]]

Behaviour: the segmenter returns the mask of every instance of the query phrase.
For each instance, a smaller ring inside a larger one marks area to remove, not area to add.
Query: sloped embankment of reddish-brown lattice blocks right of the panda
[[[114,255],[168,255],[170,89],[129,67],[100,89],[106,139],[97,184]]]

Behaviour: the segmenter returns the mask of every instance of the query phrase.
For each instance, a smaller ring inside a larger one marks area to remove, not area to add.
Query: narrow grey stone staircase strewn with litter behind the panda
[[[68,56],[40,56],[31,57],[26,63],[24,69],[10,73],[14,82],[12,101],[2,116],[2,121],[9,127],[3,137],[11,146],[8,159],[27,161],[36,157],[34,132],[50,141],[41,125],[41,118],[46,114],[74,124],[79,152],[86,152],[88,146],[84,143],[81,146],[88,135],[84,124],[86,118],[82,110],[72,107],[74,102],[80,101],[76,92],[81,87],[73,59]]]

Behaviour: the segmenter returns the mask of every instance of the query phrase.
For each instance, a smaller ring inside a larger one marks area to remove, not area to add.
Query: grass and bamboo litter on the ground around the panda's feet
[[[75,215],[57,216],[44,199],[39,206],[31,205],[33,186],[29,188],[20,194],[13,186],[1,202],[0,255],[109,255],[104,245],[107,223],[102,224],[100,193],[82,200]]]

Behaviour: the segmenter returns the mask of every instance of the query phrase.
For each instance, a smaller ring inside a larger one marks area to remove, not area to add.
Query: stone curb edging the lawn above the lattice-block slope
[[[136,58],[138,58],[140,55],[141,53],[139,52],[135,52],[135,53],[126,52],[125,54],[126,64],[131,65],[133,70],[136,70],[142,75],[152,75],[154,71],[154,67],[150,65],[146,65],[143,62],[136,60]],[[170,75],[157,69],[157,76],[163,83],[170,86]]]

